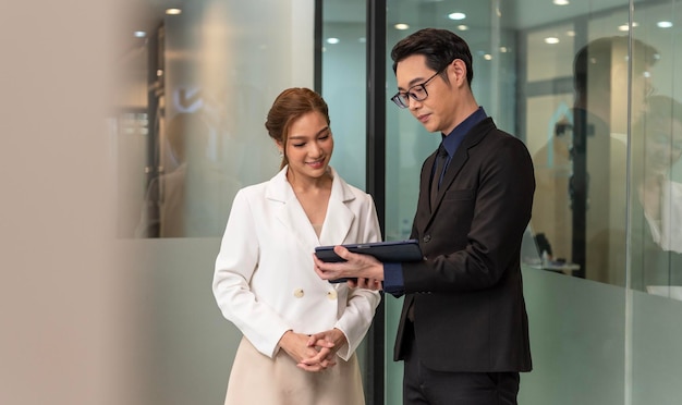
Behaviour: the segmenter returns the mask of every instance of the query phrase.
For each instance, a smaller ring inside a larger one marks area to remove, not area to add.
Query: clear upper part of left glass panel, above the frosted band
[[[118,103],[144,110],[149,131],[117,140],[119,236],[219,237],[236,191],[277,170],[264,120],[281,89],[313,82],[313,53],[295,53],[313,49],[313,8],[162,3],[137,3],[127,22]]]

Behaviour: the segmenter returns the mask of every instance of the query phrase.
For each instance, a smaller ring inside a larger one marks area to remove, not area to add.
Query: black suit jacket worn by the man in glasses
[[[464,137],[429,207],[436,154],[422,167],[412,237],[427,260],[403,263],[394,359],[404,358],[414,304],[419,359],[440,371],[529,371],[520,255],[535,176],[525,145],[490,118]],[[409,322],[409,321],[407,321]]]

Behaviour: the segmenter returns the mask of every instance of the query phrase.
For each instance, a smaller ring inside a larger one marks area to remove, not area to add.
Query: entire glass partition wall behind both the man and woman
[[[108,120],[119,248],[139,278],[141,403],[224,395],[240,334],[212,300],[212,261],[236,189],[278,168],[263,123],[284,87],[322,93],[332,165],[376,194],[385,240],[409,236],[419,169],[439,137],[389,100],[389,53],[422,27],[468,41],[477,101],[534,157],[522,258],[534,371],[522,375],[520,402],[682,397],[679,0],[142,3],[126,25],[146,34],[120,52]],[[381,108],[368,101],[376,88]],[[385,147],[370,150],[370,138]],[[386,172],[380,187],[372,172]],[[360,348],[368,404],[402,400],[402,364],[392,361],[401,305],[385,297]]]

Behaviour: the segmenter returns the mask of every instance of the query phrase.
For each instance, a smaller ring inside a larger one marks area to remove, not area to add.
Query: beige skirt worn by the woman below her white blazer
[[[349,361],[319,372],[296,367],[282,349],[264,356],[242,338],[228,382],[226,405],[364,405],[363,382],[355,354]]]

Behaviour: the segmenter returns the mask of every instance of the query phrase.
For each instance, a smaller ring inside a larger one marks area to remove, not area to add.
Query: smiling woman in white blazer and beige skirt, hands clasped
[[[365,403],[355,349],[379,294],[366,280],[353,289],[320,280],[313,251],[381,235],[372,197],[329,167],[329,122],[315,91],[281,93],[265,124],[281,170],[234,198],[212,284],[223,316],[244,334],[226,404]]]

